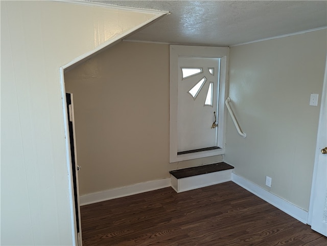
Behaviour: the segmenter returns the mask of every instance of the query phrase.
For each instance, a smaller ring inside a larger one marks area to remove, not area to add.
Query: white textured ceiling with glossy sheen
[[[327,26],[327,1],[89,1],[169,11],[127,39],[207,46],[236,44]]]

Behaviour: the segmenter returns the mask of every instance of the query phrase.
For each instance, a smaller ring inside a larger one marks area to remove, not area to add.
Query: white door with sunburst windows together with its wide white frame
[[[223,154],[229,48],[170,46],[170,162]]]

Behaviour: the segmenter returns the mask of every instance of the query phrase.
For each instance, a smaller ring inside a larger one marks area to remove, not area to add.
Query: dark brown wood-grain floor
[[[81,207],[84,246],[312,245],[327,238],[232,182]]]

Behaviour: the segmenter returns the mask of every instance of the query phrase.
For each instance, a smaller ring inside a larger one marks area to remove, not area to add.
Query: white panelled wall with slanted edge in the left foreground
[[[159,16],[1,1],[1,244],[72,245],[60,66]]]

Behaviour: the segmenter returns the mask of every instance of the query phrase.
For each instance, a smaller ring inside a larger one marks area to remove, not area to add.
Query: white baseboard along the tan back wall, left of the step
[[[163,180],[154,180],[154,181],[139,183],[135,185],[90,193],[80,196],[80,206],[99,203],[105,200],[111,200],[114,198],[134,195],[134,194],[143,193],[151,190],[158,190],[170,186],[171,186],[170,178],[165,178]]]

